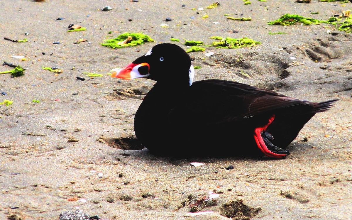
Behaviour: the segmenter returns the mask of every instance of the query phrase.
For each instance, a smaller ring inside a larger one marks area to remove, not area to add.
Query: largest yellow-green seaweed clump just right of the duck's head
[[[214,37],[212,37],[212,39],[214,39]],[[216,37],[216,39],[219,39],[219,38]],[[226,38],[222,38],[220,41],[213,42],[212,46],[215,46],[216,48],[234,49],[234,48],[241,48],[244,46],[251,47],[257,44],[260,44],[260,42],[247,37],[243,37],[243,38],[226,37]]]

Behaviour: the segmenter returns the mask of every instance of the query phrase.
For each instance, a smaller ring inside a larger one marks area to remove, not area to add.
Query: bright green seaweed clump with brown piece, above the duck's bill
[[[123,33],[120,34],[117,38],[107,39],[104,41],[105,43],[101,43],[102,46],[108,46],[113,49],[125,48],[126,46],[137,46],[147,42],[154,42],[152,38],[142,33]]]

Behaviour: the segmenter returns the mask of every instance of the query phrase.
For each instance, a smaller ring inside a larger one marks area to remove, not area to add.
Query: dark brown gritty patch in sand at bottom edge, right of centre
[[[228,218],[248,220],[257,215],[262,208],[253,208],[243,203],[243,200],[231,200],[220,208],[220,214]]]

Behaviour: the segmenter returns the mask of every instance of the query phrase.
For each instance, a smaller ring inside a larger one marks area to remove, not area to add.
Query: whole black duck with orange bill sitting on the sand
[[[136,137],[150,153],[282,159],[304,124],[338,100],[309,102],[219,79],[193,82],[194,72],[187,52],[169,43],[113,71],[112,77],[156,81],[134,117]]]

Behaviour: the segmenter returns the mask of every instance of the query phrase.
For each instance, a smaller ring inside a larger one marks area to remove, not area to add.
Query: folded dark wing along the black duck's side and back
[[[260,114],[270,115],[277,109],[298,105],[306,106],[307,113],[314,111],[310,107],[312,102],[243,83],[204,80],[194,82],[186,94],[180,96],[169,113],[169,120],[172,124],[221,124],[246,120]]]

